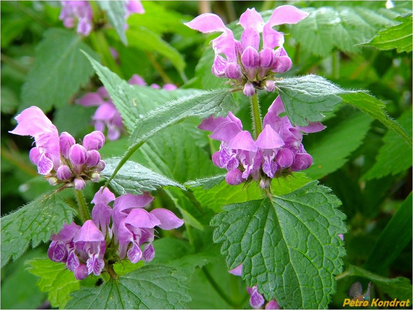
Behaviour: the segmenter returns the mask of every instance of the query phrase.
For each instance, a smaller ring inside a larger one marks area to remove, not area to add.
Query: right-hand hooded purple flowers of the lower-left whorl
[[[137,263],[141,258],[145,261],[152,260],[155,254],[152,246],[154,227],[171,230],[183,224],[183,220],[164,208],[146,211],[143,207],[152,200],[149,193],[126,194],[115,199],[112,229],[115,243],[119,244],[117,253],[120,259],[127,256],[132,263]],[[145,246],[142,252],[140,246],[143,244]]]

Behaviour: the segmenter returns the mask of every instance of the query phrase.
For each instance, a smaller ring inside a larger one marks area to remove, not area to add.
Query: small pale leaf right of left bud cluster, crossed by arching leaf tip
[[[106,167],[102,171],[101,176],[108,179],[116,166],[118,166],[120,160],[119,157],[105,159]],[[119,195],[127,193],[140,195],[143,191],[150,192],[163,186],[175,186],[185,190],[185,187],[178,182],[159,175],[134,161],[126,161],[125,165],[110,181],[110,185]]]

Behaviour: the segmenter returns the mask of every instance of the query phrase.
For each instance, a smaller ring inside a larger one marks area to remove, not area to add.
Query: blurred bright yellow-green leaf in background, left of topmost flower
[[[126,35],[131,47],[150,53],[159,53],[169,59],[181,76],[183,75],[185,69],[183,56],[166,41],[162,40],[159,34],[152,32],[148,28],[137,26],[133,30],[128,29]]]

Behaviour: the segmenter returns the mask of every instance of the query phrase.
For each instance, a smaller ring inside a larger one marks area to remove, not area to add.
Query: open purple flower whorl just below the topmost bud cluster
[[[308,126],[293,126],[278,96],[263,119],[263,131],[254,141],[247,130],[242,130],[240,119],[231,112],[228,116],[205,118],[199,129],[212,131],[209,136],[221,141],[219,151],[213,154],[212,161],[220,168],[227,169],[225,180],[230,185],[238,185],[249,177],[260,180],[266,188],[273,177],[309,168],[311,155],[301,144],[303,133],[323,130],[321,123]]]

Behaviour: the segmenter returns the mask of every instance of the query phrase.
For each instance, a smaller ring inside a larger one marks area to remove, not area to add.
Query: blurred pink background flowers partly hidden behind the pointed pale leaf
[[[145,80],[138,74],[134,74],[128,82],[131,85],[147,85]],[[151,84],[150,87],[155,89],[161,88],[161,86],[155,83]],[[176,90],[177,87],[176,85],[168,83],[164,85],[163,89]],[[102,86],[98,88],[96,92],[88,92],[87,94],[83,95],[83,97],[76,100],[76,103],[83,106],[98,106],[95,114],[93,114],[92,116],[92,120],[95,123],[95,130],[99,130],[100,132],[104,133],[105,129],[107,128],[107,138],[109,140],[119,139],[121,133],[123,132],[121,114],[113,104],[106,88]]]

